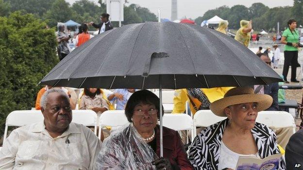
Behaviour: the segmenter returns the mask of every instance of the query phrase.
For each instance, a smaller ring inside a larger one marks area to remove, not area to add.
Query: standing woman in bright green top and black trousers
[[[291,78],[292,82],[299,82],[296,80],[296,71],[298,65],[298,43],[299,32],[296,30],[297,21],[295,19],[289,19],[288,28],[283,32],[281,43],[285,44],[284,47],[284,67],[283,76],[286,83],[289,66],[291,65]]]

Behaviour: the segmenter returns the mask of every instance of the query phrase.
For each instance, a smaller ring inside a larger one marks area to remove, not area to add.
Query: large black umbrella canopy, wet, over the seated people
[[[59,62],[42,84],[105,89],[247,86],[282,81],[247,47],[193,24],[146,22],[95,36]]]

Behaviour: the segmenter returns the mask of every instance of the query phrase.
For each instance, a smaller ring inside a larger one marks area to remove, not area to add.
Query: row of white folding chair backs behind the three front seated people
[[[199,110],[193,118],[187,114],[164,114],[163,125],[176,131],[190,131],[191,134],[193,134],[191,135],[192,141],[197,136],[196,127],[207,127],[224,119],[226,118],[216,116],[211,110]],[[3,140],[7,137],[8,126],[24,126],[42,120],[43,115],[40,110],[17,110],[11,112],[6,118]],[[101,134],[102,127],[119,127],[129,123],[124,114],[124,110],[107,110],[103,112],[100,117],[92,110],[73,110],[72,122],[84,124],[85,126],[94,126],[95,134],[97,134],[98,126],[99,134]],[[293,127],[293,133],[296,131],[294,118],[285,111],[261,111],[258,113],[256,122],[276,128]],[[101,135],[99,135],[99,139],[100,138]]]

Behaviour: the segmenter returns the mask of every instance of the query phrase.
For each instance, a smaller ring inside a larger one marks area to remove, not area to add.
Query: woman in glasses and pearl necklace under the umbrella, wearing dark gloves
[[[159,98],[148,90],[131,95],[125,106],[130,124],[104,140],[97,170],[193,170],[179,133],[167,127],[163,127],[160,158],[159,105]]]

